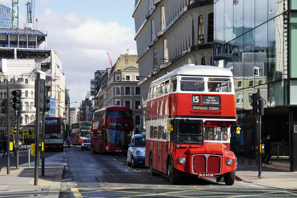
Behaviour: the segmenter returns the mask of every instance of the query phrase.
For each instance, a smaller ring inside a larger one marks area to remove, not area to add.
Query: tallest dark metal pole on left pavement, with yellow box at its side
[[[37,72],[35,86],[35,104],[36,104],[36,125],[35,125],[35,171],[34,171],[34,186],[38,185],[38,165],[39,165],[39,111],[40,111],[40,73]]]

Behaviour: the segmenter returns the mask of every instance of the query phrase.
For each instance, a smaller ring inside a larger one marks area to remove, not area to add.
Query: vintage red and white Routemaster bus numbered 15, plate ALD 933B
[[[215,84],[219,90],[212,92]],[[190,174],[217,181],[224,177],[233,185],[237,162],[228,138],[233,122],[232,72],[215,66],[179,67],[151,83],[145,165],[151,175],[166,175],[171,184]]]

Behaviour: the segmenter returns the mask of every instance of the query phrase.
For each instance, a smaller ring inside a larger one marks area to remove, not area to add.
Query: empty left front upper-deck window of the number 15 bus
[[[181,77],[181,91],[204,91],[203,78]]]

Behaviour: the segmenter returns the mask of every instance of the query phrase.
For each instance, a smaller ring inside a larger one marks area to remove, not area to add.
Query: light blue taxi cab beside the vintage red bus
[[[137,164],[145,164],[145,151],[146,151],[146,135],[134,134],[131,137],[130,144],[128,145],[127,163],[128,166],[137,167]]]

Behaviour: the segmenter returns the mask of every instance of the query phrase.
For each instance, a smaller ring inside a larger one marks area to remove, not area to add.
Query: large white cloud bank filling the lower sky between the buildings
[[[135,54],[134,29],[117,22],[103,23],[74,12],[63,14],[49,8],[39,13],[38,20],[37,29],[48,30],[48,47],[56,48],[62,58],[70,102],[78,102],[72,103],[75,107],[79,107],[90,91],[94,72],[110,67],[107,52],[113,64],[127,49]]]

